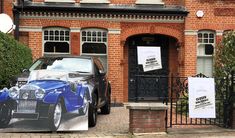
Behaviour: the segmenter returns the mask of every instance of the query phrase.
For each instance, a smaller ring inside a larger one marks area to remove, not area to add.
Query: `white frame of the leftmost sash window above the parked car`
[[[48,31],[48,39],[47,40],[45,40],[45,32],[46,31]],[[58,39],[59,40],[50,40],[50,35],[49,35],[49,33],[50,33],[50,31],[54,31],[54,34],[53,34],[53,37],[54,37],[54,39],[56,38],[56,35],[55,35],[55,32],[56,31],[59,31],[59,36],[58,36]],[[60,39],[61,39],[61,31],[64,31],[64,40],[63,41],[61,41]],[[69,32],[69,35],[68,35],[68,40],[66,40],[66,31],[68,31]],[[43,45],[43,47],[42,47],[42,54],[43,55],[69,55],[69,54],[71,54],[71,31],[70,31],[70,29],[68,29],[68,28],[64,28],[64,27],[46,27],[46,28],[43,28],[43,35],[42,35],[42,37],[43,37],[43,43],[42,43],[42,45]],[[68,45],[69,45],[69,51],[68,52],[45,52],[45,44],[46,44],[46,42],[67,42],[68,43]]]

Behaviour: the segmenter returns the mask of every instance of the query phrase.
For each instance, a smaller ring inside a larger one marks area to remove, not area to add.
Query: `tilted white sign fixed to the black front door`
[[[138,46],[138,64],[143,65],[144,72],[162,68],[160,47]]]

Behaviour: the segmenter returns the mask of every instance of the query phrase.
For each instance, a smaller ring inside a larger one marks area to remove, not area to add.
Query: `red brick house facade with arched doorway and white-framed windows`
[[[152,74],[210,76],[214,47],[224,31],[235,28],[233,0],[25,0],[1,5],[15,19],[15,37],[32,49],[34,59],[61,53],[100,57],[112,101],[118,103],[133,100],[137,46],[161,47],[163,69]]]

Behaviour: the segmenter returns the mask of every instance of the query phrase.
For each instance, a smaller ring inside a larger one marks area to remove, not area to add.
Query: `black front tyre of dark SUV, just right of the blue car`
[[[89,127],[94,127],[97,121],[97,95],[92,94],[92,102],[89,103],[88,123]]]

